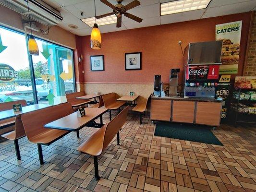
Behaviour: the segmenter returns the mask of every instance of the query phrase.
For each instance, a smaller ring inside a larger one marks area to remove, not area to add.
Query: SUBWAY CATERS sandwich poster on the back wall
[[[219,74],[236,74],[238,72],[241,31],[242,21],[216,25],[216,40],[222,40],[222,64]]]

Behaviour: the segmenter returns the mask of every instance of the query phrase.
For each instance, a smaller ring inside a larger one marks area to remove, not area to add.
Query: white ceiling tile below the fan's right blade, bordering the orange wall
[[[123,22],[127,29],[134,29],[140,27],[147,27],[147,26],[154,26],[160,24],[160,16],[153,17],[153,18],[144,18],[141,23],[135,22],[134,20],[130,19],[129,21]]]

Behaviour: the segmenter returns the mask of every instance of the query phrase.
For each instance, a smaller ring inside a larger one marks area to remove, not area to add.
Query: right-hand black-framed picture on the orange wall
[[[141,70],[141,52],[125,53],[125,70]]]

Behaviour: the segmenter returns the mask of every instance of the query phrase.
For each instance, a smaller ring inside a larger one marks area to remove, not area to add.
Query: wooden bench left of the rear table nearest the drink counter
[[[110,112],[110,120],[111,120],[111,110],[117,110],[125,104],[123,101],[116,101],[118,99],[118,96],[116,93],[109,93],[102,96],[102,100],[104,103],[105,108],[109,109]]]

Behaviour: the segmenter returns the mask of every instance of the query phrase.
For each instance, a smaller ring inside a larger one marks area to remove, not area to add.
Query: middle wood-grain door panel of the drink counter
[[[195,101],[173,101],[172,121],[193,123],[195,116]]]

